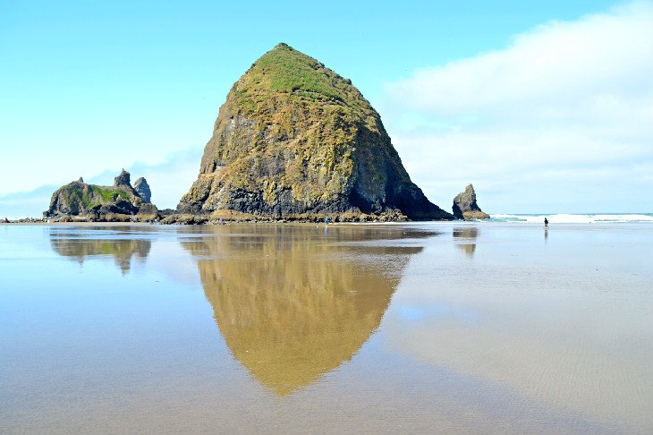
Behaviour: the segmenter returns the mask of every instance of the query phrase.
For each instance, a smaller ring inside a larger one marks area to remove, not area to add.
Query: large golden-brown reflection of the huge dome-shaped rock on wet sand
[[[303,227],[252,231],[184,246],[233,356],[282,396],[352,359],[421,250],[350,243],[373,239],[365,230],[329,228],[328,243]]]

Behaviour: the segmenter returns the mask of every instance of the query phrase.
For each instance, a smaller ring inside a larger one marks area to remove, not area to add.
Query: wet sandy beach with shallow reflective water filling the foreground
[[[0,433],[653,433],[653,225],[0,226]]]

